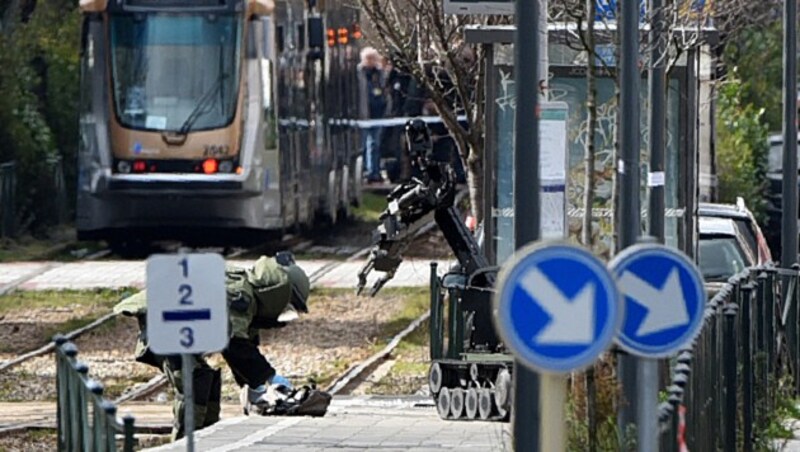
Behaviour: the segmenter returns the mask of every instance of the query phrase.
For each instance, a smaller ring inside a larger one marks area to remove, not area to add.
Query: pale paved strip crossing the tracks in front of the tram
[[[250,265],[253,261],[233,260],[236,265]],[[309,275],[322,267],[336,263],[330,260],[298,261]],[[358,271],[364,261],[341,262],[325,273],[317,287],[354,288]],[[439,261],[443,273],[450,263]],[[377,277],[372,275],[370,282]],[[386,287],[427,286],[430,280],[430,261],[406,260],[394,279]],[[145,261],[93,261],[93,262],[18,262],[0,264],[0,293],[11,286],[21,290],[96,289],[119,287],[144,287]]]

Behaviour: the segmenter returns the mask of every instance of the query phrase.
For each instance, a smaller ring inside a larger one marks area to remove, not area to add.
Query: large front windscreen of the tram
[[[234,15],[114,15],[114,108],[123,126],[187,133],[236,113],[241,23]]]

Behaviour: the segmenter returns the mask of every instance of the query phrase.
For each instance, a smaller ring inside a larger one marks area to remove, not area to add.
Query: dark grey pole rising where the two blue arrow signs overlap
[[[619,178],[619,207],[617,226],[619,249],[636,243],[641,234],[639,200],[639,5],[640,0],[621,0],[620,24],[620,158],[617,161]],[[636,425],[637,361],[632,355],[618,355],[618,373],[622,382],[618,428],[621,439],[627,439],[630,427]]]

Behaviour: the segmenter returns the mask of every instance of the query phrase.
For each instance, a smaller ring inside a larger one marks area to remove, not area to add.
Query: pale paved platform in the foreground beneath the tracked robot
[[[443,421],[428,397],[334,398],[322,418],[236,417],[201,430],[202,451],[511,450],[507,423]],[[505,446],[504,446],[505,444]],[[186,450],[185,440],[153,451]]]

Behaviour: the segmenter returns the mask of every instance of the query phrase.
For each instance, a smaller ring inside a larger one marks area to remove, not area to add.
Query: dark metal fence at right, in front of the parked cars
[[[659,406],[664,451],[769,448],[764,433],[793,399],[798,359],[798,268],[756,267],[706,306],[703,328],[671,363]]]

